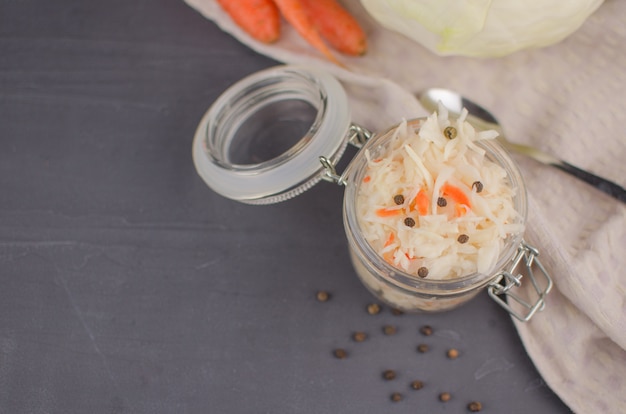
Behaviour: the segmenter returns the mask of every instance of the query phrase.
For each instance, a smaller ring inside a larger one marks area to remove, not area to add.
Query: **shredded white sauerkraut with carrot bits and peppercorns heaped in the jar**
[[[497,134],[476,132],[464,120],[465,110],[449,120],[441,108],[418,130],[403,121],[388,141],[366,149],[359,225],[374,250],[407,273],[420,275],[421,269],[424,277],[426,268],[436,280],[490,274],[505,239],[524,230],[515,189],[506,170],[475,143]],[[456,129],[455,138],[444,135],[447,127]]]

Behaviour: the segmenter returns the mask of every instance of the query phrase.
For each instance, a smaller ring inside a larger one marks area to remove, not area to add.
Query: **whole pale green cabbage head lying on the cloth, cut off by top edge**
[[[384,27],[440,55],[503,56],[576,31],[603,0],[361,0]]]

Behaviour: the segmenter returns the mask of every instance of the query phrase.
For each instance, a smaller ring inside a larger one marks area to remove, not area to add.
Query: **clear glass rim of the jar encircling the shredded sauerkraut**
[[[409,125],[419,126],[426,118],[416,118],[407,121]],[[372,137],[367,144],[361,149],[361,152],[372,148],[389,136],[399,124],[387,129],[386,131]],[[476,145],[486,151],[486,155],[492,158],[492,161],[503,167],[507,173],[507,177],[515,188],[514,205],[518,212],[521,224],[525,227],[527,221],[527,191],[524,178],[517,166],[517,163],[511,158],[507,150],[502,147],[496,140],[480,140],[475,142]],[[474,272],[471,274],[455,277],[451,279],[423,279],[416,275],[404,272],[403,270],[387,263],[370,245],[363,236],[356,213],[356,195],[358,193],[358,183],[363,181],[365,175],[365,157],[355,157],[344,176],[346,176],[346,191],[343,203],[343,220],[348,242],[353,248],[356,255],[364,265],[376,267],[379,271],[374,274],[383,277],[387,282],[394,284],[400,289],[419,292],[433,293],[439,295],[457,295],[463,294],[469,290],[473,290],[487,285],[491,280],[498,277],[498,272],[502,270],[508,262],[515,256],[520,244],[523,240],[524,231],[511,234],[507,237],[505,246],[501,250],[498,260],[490,274]],[[366,260],[364,260],[366,259]],[[372,270],[372,269],[370,269]]]

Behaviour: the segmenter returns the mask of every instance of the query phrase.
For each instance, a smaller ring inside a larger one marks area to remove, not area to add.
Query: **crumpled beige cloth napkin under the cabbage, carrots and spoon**
[[[626,184],[626,2],[607,0],[563,42],[497,59],[439,57],[383,29],[358,0],[367,55],[334,65],[288,25],[272,45],[251,39],[215,0],[185,0],[277,61],[336,76],[352,119],[382,131],[427,112],[415,93],[446,87],[496,112],[508,138]],[[376,116],[371,116],[375,113]],[[547,384],[577,413],[626,412],[626,205],[555,168],[515,157],[529,193],[526,239],[554,279],[545,310],[514,319]]]

